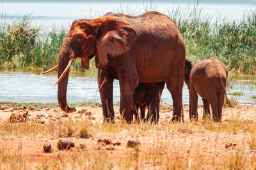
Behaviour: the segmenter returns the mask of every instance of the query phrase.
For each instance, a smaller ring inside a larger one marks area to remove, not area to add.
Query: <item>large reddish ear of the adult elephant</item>
[[[116,23],[115,23],[116,24]],[[127,24],[115,25],[111,31],[106,31],[97,41],[97,67],[108,63],[108,55],[117,57],[128,52],[137,38],[137,33]]]

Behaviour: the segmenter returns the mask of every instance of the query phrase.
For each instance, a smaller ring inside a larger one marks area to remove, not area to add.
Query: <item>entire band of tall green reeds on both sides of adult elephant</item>
[[[196,5],[170,9],[166,15],[179,27],[188,59],[215,57],[230,71],[256,73],[256,9],[244,13],[239,21],[202,16]],[[3,24],[0,27],[0,68],[46,70],[55,66],[67,30],[53,28],[48,34],[42,34],[40,27],[31,25],[28,16],[19,22]],[[94,59],[90,67],[95,73]],[[75,60],[72,70],[84,71],[79,60]]]

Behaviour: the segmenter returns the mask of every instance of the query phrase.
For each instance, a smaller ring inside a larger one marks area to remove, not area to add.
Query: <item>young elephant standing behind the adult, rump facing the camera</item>
[[[184,81],[189,89],[189,118],[191,120],[198,120],[197,94],[199,94],[204,103],[204,117],[207,114],[210,115],[209,104],[211,104],[214,122],[221,122],[224,96],[227,99],[225,90],[227,78],[228,71],[225,65],[212,57],[206,60],[196,60],[193,65],[186,59]],[[228,99],[227,102],[230,105]]]

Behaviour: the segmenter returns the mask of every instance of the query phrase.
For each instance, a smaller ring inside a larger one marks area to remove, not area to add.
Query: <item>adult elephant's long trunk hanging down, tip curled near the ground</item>
[[[63,52],[63,49],[66,49],[66,51]],[[74,52],[67,52],[67,48],[62,47],[58,62],[58,103],[61,110],[67,113],[76,111],[76,108],[67,106],[68,72],[74,60],[73,54]]]

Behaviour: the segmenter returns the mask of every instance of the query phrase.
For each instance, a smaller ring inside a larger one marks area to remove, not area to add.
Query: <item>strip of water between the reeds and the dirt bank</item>
[[[81,75],[81,74],[80,74]],[[244,104],[253,104],[250,97],[256,95],[255,78],[246,80],[246,77],[231,78],[228,84],[231,89],[227,92],[243,92],[244,96],[236,97]],[[58,103],[58,86],[56,74],[42,74],[31,72],[0,71],[0,101],[15,103]],[[228,95],[228,97],[232,97]],[[200,97],[199,97],[200,98]],[[114,103],[120,102],[119,81],[114,81]],[[67,90],[68,103],[94,102],[100,103],[100,94],[97,85],[97,76],[70,75]],[[202,102],[199,99],[199,102]],[[161,103],[171,103],[172,96],[164,87]],[[189,103],[189,93],[186,84],[183,88],[183,104]]]

